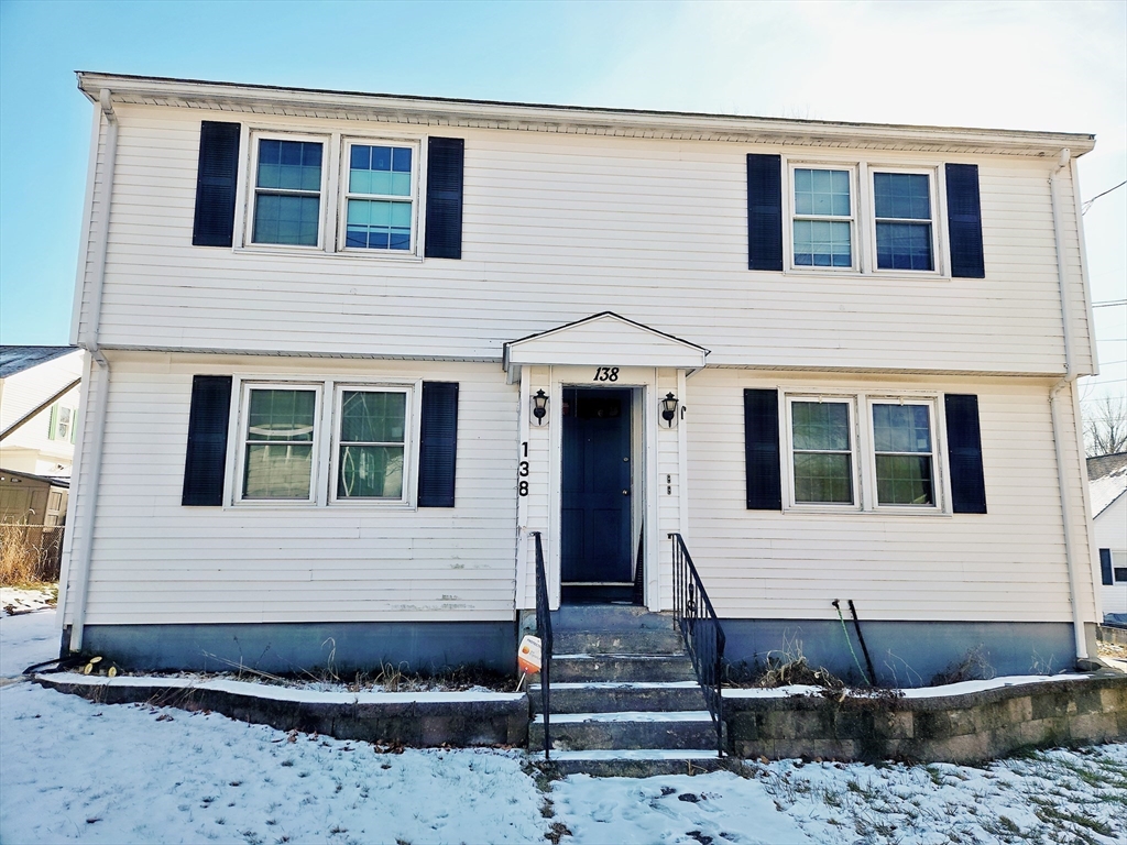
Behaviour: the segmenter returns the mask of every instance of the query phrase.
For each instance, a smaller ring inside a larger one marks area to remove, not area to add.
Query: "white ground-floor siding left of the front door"
[[[256,383],[459,382],[456,506],[181,507],[192,376],[216,367]],[[512,620],[516,430],[496,365],[118,355],[87,622]],[[88,500],[82,488],[76,549]]]

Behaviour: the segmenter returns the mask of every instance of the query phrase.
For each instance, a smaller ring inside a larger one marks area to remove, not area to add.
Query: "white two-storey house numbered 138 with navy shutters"
[[[1091,135],[79,87],[71,649],[512,667],[539,532],[734,662],[1094,653]]]

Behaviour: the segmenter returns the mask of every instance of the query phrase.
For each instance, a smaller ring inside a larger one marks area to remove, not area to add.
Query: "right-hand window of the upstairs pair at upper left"
[[[345,248],[410,251],[415,151],[352,143],[345,195]]]

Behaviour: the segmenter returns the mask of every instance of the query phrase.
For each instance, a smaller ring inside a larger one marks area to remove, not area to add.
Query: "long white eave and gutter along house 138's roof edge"
[[[1082,155],[1091,134],[1022,130],[908,126],[900,124],[747,117],[693,112],[553,106],[534,103],[411,97],[317,88],[210,82],[78,71],[79,89],[97,103],[185,106],[260,115],[468,126],[616,137],[734,141],[797,146],[925,150],[1056,157],[1063,148]]]

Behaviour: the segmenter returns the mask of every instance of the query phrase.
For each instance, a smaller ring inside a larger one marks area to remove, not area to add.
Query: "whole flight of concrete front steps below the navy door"
[[[673,616],[642,607],[560,608],[550,687],[550,767],[639,777],[713,771],[716,723]],[[539,684],[530,687],[530,754],[543,758]]]

